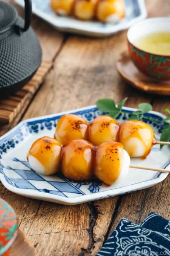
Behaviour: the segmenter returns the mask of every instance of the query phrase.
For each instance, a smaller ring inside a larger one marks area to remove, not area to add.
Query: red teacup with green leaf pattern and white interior
[[[170,17],[150,18],[135,23],[127,32],[130,57],[145,75],[170,80],[170,56],[151,54],[134,46],[134,41],[156,32],[170,32]]]

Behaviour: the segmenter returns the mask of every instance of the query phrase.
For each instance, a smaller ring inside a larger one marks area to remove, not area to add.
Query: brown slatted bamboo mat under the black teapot
[[[42,61],[28,84],[6,99],[0,99],[0,125],[8,125],[19,115],[22,116],[51,67],[52,62]]]

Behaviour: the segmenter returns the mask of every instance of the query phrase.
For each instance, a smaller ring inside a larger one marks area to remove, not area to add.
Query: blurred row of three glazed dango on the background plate
[[[125,17],[123,0],[51,0],[57,15],[68,15],[79,20],[99,20],[116,23]]]

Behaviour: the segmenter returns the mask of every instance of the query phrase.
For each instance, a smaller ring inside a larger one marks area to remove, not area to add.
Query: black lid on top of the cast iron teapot
[[[8,3],[0,1],[0,34],[10,29],[16,23],[17,18],[16,9]]]

